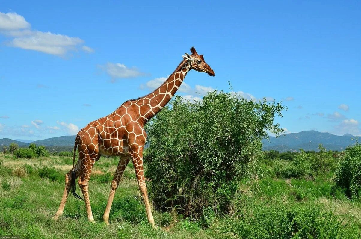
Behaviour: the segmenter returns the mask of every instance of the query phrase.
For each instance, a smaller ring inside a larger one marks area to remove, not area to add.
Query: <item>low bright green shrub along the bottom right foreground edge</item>
[[[228,230],[244,239],[358,238],[357,227],[344,226],[338,216],[309,204],[287,207],[258,202],[230,220]]]

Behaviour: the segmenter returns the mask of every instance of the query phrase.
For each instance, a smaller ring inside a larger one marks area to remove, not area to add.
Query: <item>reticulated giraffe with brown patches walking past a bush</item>
[[[107,225],[109,224],[109,212],[112,207],[114,194],[123,171],[131,160],[145,204],[148,222],[153,227],[156,227],[149,205],[147,186],[145,185],[143,173],[143,149],[147,138],[144,125],[170,101],[181,86],[188,71],[194,69],[214,76],[214,71],[206,64],[203,55],[198,55],[194,47],[191,48],[191,53],[191,55],[185,53],[182,62],[175,71],[156,90],[138,99],[126,101],[113,113],[90,122],[78,132],[74,143],[73,168],[65,175],[65,189],[59,209],[53,217],[55,220],[63,213],[70,190],[75,197],[82,199],[75,192],[75,179],[79,177],[78,184],[83,193],[88,220],[94,222],[88,194],[88,182],[92,167],[102,155],[106,157],[119,156],[120,160],[114,174],[108,203],[103,215],[104,222]],[[77,164],[74,165],[77,148],[79,159]]]

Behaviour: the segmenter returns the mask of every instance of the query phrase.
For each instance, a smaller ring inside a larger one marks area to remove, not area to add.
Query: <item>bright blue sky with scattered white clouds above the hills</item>
[[[0,138],[74,135],[150,92],[195,46],[177,94],[210,89],[288,107],[286,132],[361,135],[357,1],[2,1]]]

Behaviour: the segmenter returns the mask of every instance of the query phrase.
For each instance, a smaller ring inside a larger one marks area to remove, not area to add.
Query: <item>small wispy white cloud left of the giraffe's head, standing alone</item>
[[[112,82],[118,78],[135,78],[147,75],[135,67],[128,68],[120,63],[107,62],[105,65],[98,65],[98,67],[112,77]]]

